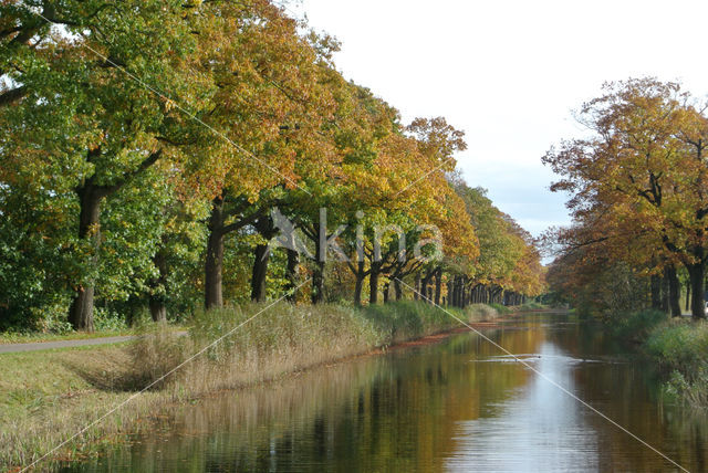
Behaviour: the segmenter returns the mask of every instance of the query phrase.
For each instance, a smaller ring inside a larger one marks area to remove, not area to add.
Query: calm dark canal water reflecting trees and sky
[[[487,332],[691,472],[708,423],[660,401],[656,376],[568,316]],[[465,334],[175,408],[65,472],[678,471],[483,339]]]

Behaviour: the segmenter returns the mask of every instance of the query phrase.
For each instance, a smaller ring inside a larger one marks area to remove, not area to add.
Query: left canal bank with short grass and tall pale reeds
[[[275,380],[459,325],[442,311],[413,302],[361,309],[266,307],[254,304],[198,314],[189,322],[188,336],[178,336],[169,327],[152,327],[128,346],[0,355],[0,471],[32,463],[239,326],[52,456],[62,460],[91,453],[170,403]],[[499,316],[483,305],[451,312],[472,323]]]

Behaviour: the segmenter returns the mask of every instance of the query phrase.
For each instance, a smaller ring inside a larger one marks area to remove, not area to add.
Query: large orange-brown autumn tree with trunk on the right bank
[[[678,84],[644,78],[606,84],[579,119],[594,135],[546,154],[544,162],[563,176],[553,189],[573,193],[576,219],[601,207],[622,231],[660,242],[650,246],[649,271],[668,270],[676,312],[676,264],[688,271],[694,295],[705,288],[705,117]],[[694,297],[691,313],[705,317],[702,297]]]

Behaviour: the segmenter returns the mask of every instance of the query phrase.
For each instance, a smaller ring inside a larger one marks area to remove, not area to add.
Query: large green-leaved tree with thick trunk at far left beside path
[[[48,189],[75,195],[85,271],[72,283],[69,319],[91,330],[102,204],[158,160],[176,159],[185,139],[189,117],[155,91],[199,113],[192,98],[205,90],[187,67],[195,42],[181,2],[32,3],[1,7],[0,148],[19,162],[8,179],[50,175]]]

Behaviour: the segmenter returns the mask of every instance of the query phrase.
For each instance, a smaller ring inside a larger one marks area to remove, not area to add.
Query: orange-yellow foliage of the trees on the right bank
[[[614,262],[637,274],[687,264],[708,244],[708,118],[691,102],[675,83],[608,84],[581,114],[596,136],[544,157],[574,192],[574,225],[556,234],[574,284]]]

